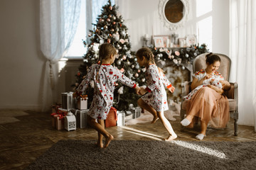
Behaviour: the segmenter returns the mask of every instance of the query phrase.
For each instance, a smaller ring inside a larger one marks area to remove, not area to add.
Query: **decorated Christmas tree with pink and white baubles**
[[[93,30],[90,30],[88,35],[90,42],[83,41],[85,47],[87,47],[87,53],[84,55],[84,62],[79,67],[79,72],[76,75],[78,80],[76,86],[80,84],[83,77],[87,74],[88,67],[97,62],[99,47],[106,42],[114,45],[117,49],[118,57],[113,65],[123,72],[125,76],[137,82],[137,85],[143,85],[145,79],[140,73],[145,72],[145,69],[139,67],[137,58],[134,56],[134,52],[131,51],[128,29],[124,25],[124,20],[117,11],[117,8],[115,5],[112,6],[110,0],[105,6],[102,6],[102,13],[97,17],[97,23],[92,24]],[[89,104],[93,97],[93,84],[91,85],[85,91],[89,98]],[[116,84],[113,105],[118,111],[127,111],[131,104],[137,106],[138,98],[139,96],[134,93],[133,89],[122,84]]]

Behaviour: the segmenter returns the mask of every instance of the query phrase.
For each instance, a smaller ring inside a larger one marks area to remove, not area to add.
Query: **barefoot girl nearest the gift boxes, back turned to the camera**
[[[131,79],[124,76],[117,67],[111,65],[117,55],[117,50],[113,45],[108,43],[100,45],[99,55],[100,64],[92,64],[87,70],[87,75],[78,86],[74,96],[81,94],[87,89],[90,81],[94,81],[94,96],[88,112],[90,115],[88,123],[99,133],[97,146],[103,147],[102,135],[104,135],[105,147],[107,147],[114,137],[105,130],[104,120],[113,103],[115,84],[119,81],[121,84],[134,88],[137,93],[140,88]]]

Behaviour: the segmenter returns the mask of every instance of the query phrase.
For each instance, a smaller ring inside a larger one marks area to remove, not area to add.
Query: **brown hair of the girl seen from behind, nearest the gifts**
[[[102,60],[110,58],[111,55],[117,55],[117,50],[114,48],[113,45],[111,45],[110,43],[104,43],[100,45],[99,59],[97,60],[97,63],[100,63],[100,67],[102,65]],[[100,72],[100,67],[96,75],[97,81],[99,80],[98,74]]]

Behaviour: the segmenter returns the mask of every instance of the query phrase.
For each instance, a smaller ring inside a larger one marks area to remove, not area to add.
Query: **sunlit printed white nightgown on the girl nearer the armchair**
[[[169,108],[164,85],[169,89],[171,82],[164,74],[159,74],[159,69],[155,64],[150,64],[146,69],[146,85],[149,93],[142,96],[142,100],[156,111],[167,111]]]

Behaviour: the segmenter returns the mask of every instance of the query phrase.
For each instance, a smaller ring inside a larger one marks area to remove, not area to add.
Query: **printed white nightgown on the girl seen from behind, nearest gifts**
[[[99,69],[100,68],[100,69]],[[97,76],[98,75],[98,76]],[[90,111],[87,113],[91,118],[105,120],[114,99],[114,87],[117,81],[121,84],[135,88],[136,84],[111,64],[93,64],[88,70],[85,79],[78,86],[77,91],[87,89],[90,81],[94,81],[94,96]]]

